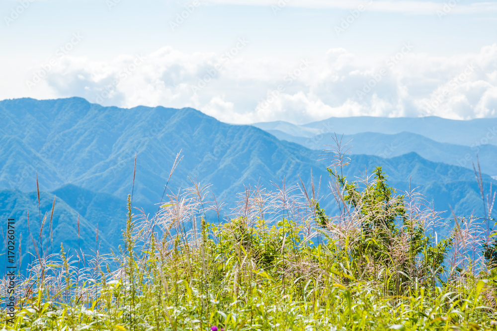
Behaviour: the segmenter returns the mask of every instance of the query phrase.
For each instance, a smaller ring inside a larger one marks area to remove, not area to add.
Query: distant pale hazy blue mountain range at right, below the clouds
[[[357,120],[355,125],[352,119]],[[337,134],[353,146],[352,154],[388,158],[416,152],[430,161],[468,169],[479,162],[483,172],[497,177],[496,119],[357,117],[331,118],[302,126],[281,121],[254,126],[310,149],[329,148],[330,135]]]

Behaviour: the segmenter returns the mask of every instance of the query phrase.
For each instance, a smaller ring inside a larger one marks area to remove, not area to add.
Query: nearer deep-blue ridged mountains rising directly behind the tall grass
[[[0,118],[0,217],[18,220],[21,248],[23,254],[28,254],[23,255],[24,261],[30,259],[29,251],[35,255],[39,242],[42,249],[53,253],[60,251],[61,243],[66,251],[80,249],[85,254],[97,249],[101,253],[117,250],[126,221],[128,194],[133,194],[133,206],[153,216],[179,151],[184,158],[167,184],[167,193],[191,187],[192,181],[212,184],[209,191],[226,203],[229,213],[240,199],[237,194],[249,186],[273,190],[283,181],[292,186],[300,179],[310,185],[312,172],[317,186],[321,180],[321,205],[329,214],[334,212],[333,200],[325,192],[330,179],[326,166],[331,162],[326,158],[330,155],[319,150],[318,145],[306,148],[254,126],[219,122],[191,108],[122,109],[90,104],[81,98],[14,99],[0,102]],[[425,149],[432,146],[421,136],[409,137],[417,137],[420,145],[427,146]],[[323,144],[331,144],[329,135],[327,139]],[[380,147],[373,139],[378,139]],[[365,137],[362,142],[355,141],[352,150],[362,153],[375,146],[381,150],[385,141],[382,139],[381,135]],[[400,145],[403,138],[399,139]],[[434,146],[438,150],[445,148],[444,144]],[[406,150],[408,153],[401,155],[399,147],[389,158],[349,155],[351,162],[344,168],[345,174],[354,180],[363,176],[365,169],[371,174],[375,166],[382,166],[392,186],[398,190],[417,187],[440,211],[452,208],[462,216],[483,214],[472,170],[446,164],[450,162],[429,161],[420,156],[428,155],[422,148],[417,153]],[[452,152],[447,149],[445,153],[450,156]],[[488,175],[483,179],[486,189],[495,184]],[[47,220],[40,235],[45,212]]]

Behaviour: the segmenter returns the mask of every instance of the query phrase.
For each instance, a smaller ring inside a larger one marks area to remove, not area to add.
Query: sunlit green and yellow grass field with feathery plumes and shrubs
[[[396,193],[381,168],[348,181],[334,154],[334,216],[303,183],[247,188],[227,219],[196,184],[166,195],[151,219],[129,196],[120,251],[38,252],[3,328],[494,330],[494,221],[454,216],[441,238],[444,220],[421,196]],[[482,192],[488,215],[491,198]]]

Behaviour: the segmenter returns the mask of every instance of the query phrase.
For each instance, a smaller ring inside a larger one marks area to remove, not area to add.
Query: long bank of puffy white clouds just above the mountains
[[[40,88],[54,97],[76,95],[122,107],[193,107],[230,123],[307,123],[362,115],[497,116],[497,44],[443,58],[415,49],[400,57],[402,49],[368,62],[344,49],[331,49],[321,59],[290,61],[247,59],[243,50],[226,58],[165,47],[136,66],[136,55],[112,62],[67,57],[32,93]],[[368,89],[368,84],[374,86]]]

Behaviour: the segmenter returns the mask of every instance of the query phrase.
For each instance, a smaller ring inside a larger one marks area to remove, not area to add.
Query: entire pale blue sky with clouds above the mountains
[[[0,0],[0,100],[223,122],[496,117],[497,2]]]

